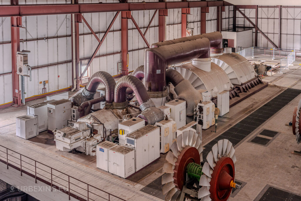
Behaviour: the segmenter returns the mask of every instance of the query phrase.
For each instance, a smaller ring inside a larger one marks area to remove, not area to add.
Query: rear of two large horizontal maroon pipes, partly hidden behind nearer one
[[[173,40],[166,40],[163,42],[157,42],[157,43],[153,43],[150,46],[150,48],[172,45],[172,44],[185,42],[185,41],[189,41],[189,40],[196,40],[196,39],[200,39],[200,38],[208,38],[210,41],[211,49],[221,48],[223,37],[222,37],[222,33],[220,33],[219,31],[199,34],[199,35],[195,35],[195,36],[188,36],[188,37],[183,37],[183,38],[178,38],[178,39],[173,39]]]

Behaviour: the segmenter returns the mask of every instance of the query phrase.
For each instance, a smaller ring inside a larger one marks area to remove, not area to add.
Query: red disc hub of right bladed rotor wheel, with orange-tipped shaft
[[[210,198],[214,201],[226,201],[232,191],[234,181],[234,163],[229,157],[222,157],[216,163],[210,181]]]

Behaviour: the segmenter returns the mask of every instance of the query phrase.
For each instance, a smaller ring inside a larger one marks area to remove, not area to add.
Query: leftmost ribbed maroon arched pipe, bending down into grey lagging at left
[[[89,83],[85,86],[85,89],[91,93],[95,93],[100,83],[103,83],[106,89],[106,103],[113,103],[116,82],[109,73],[105,71],[98,71],[93,74]]]

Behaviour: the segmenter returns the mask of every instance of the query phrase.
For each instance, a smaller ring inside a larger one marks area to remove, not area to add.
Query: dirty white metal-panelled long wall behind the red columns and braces
[[[148,2],[149,0],[147,0]],[[2,0],[1,4],[10,4],[10,1]],[[98,1],[85,1],[85,3],[98,3]],[[113,0],[102,1],[113,2]],[[138,2],[129,1],[129,2]],[[49,3],[42,0],[28,2],[19,1],[20,4],[42,4]],[[51,1],[51,3],[69,3],[69,1]],[[83,3],[79,1],[79,3]],[[228,6],[227,6],[228,7]],[[233,9],[233,8],[232,8]],[[206,14],[206,30],[208,32],[216,31],[216,7],[209,8]],[[231,8],[230,8],[231,10]],[[228,8],[229,11],[229,8]],[[227,12],[227,11],[226,11]],[[141,28],[142,33],[145,31],[154,10],[151,11],[133,11],[132,16]],[[101,38],[110,24],[115,12],[83,14],[92,29]],[[226,14],[225,16],[228,16]],[[233,16],[233,14],[232,14]],[[66,64],[54,65],[47,68],[39,68],[32,71],[32,81],[25,78],[25,97],[42,94],[45,84],[46,92],[63,89],[72,85],[71,80],[71,15],[45,15],[45,16],[29,16],[23,17],[23,29],[20,29],[20,49],[29,50],[29,65],[37,67],[40,65],[51,64],[66,61]],[[129,71],[133,71],[140,65],[144,64],[144,52],[147,48],[142,37],[136,30],[132,20],[128,20],[129,24]],[[223,23],[224,24],[224,23]],[[194,35],[200,34],[200,8],[191,9],[188,15],[188,28],[194,28]],[[223,29],[229,29],[229,25],[225,23]],[[231,29],[231,27],[230,27]],[[98,45],[97,40],[91,34],[88,27],[82,23],[79,26],[80,32],[80,58],[90,57]],[[113,52],[120,52],[120,15],[115,21],[113,27],[104,40],[97,55],[103,55]],[[158,41],[158,12],[147,31],[146,39],[149,44]],[[174,39],[181,37],[181,9],[169,9],[166,17],[166,39]],[[11,72],[11,40],[10,35],[10,17],[0,18],[0,43],[8,42],[8,44],[0,44],[0,74]],[[95,58],[90,66],[90,74],[97,71],[107,71],[111,75],[118,74],[118,62],[121,61],[120,54],[106,57]],[[83,61],[87,62],[87,61]],[[12,101],[12,78],[11,74],[0,76],[0,105]]]

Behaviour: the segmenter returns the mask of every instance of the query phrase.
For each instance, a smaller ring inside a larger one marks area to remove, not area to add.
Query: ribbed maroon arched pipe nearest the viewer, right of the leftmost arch
[[[128,87],[134,91],[139,105],[150,99],[143,83],[137,77],[127,75],[121,77],[115,86],[114,102],[120,103],[126,101],[126,89]]]

